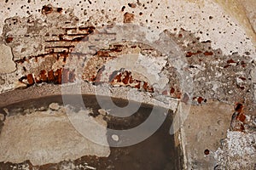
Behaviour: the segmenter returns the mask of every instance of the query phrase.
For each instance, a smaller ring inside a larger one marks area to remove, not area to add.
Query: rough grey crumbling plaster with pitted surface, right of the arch
[[[212,48],[212,41],[200,42],[189,31],[181,30],[170,37],[185,53],[187,65],[184,70],[193,77],[195,86],[194,104],[198,104],[196,97],[202,97],[219,99],[230,105],[241,102],[247,105],[247,111],[255,109],[253,93],[248,93],[253,90],[249,75],[254,64],[250,56],[224,55],[220,49]]]

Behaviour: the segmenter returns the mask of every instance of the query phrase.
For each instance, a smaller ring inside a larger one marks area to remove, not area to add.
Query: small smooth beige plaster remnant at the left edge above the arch
[[[0,44],[0,63],[0,74],[10,73],[16,70],[11,48],[4,44]]]

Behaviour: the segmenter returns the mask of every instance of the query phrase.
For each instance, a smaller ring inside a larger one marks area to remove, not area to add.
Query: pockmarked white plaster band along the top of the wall
[[[244,54],[249,51],[252,56],[255,55],[253,40],[247,36],[247,32],[236,18],[230,17],[230,14],[218,3],[210,0],[203,1],[203,3],[193,3],[187,0],[148,1],[148,3],[146,0],[140,0],[139,2],[144,6],[137,5],[137,8],[129,8],[125,0],[114,3],[113,1],[89,3],[79,0],[57,2],[42,0],[31,3],[1,1],[0,33],[3,31],[5,19],[15,15],[23,17],[31,14],[42,18],[39,9],[50,3],[55,7],[73,8],[73,13],[79,17],[81,23],[87,20],[96,26],[102,26],[102,24],[106,26],[113,22],[122,23],[124,13],[129,12],[135,14],[134,23],[150,27],[153,32],[166,29],[176,32],[173,31],[174,28],[177,28],[177,31],[183,28],[195,33],[195,36],[201,37],[201,41],[212,40],[212,47],[221,48],[224,54],[230,54],[230,51]],[[123,6],[126,8],[122,13]],[[140,12],[143,14],[139,15]],[[211,20],[209,20],[210,16]]]

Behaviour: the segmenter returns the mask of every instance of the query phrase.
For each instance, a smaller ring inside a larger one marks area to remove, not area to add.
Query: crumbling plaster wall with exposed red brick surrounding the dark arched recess
[[[228,142],[253,136],[252,144],[242,145],[250,148],[248,159],[236,164],[253,167],[253,7],[253,0],[2,1],[0,92],[37,86],[53,91],[61,82],[81,80],[86,94],[103,82],[117,89],[113,96],[125,98],[120,93],[134,88],[173,111],[178,103],[191,105],[179,136],[186,168],[229,167],[239,160],[236,150],[227,153],[226,164],[214,153],[229,128],[238,134],[230,132]]]

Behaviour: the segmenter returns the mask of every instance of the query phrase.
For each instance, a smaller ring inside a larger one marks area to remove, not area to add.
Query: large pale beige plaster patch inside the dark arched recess
[[[4,153],[0,155],[0,161],[19,163],[30,160],[32,165],[43,165],[81,156],[108,156],[109,147],[95,144],[78,133],[65,111],[61,107],[58,111],[36,111],[25,116],[7,117],[0,134],[0,150]],[[88,116],[88,112],[79,111],[70,116]],[[98,122],[107,126],[107,122]],[[106,133],[107,129],[97,131],[95,135],[105,136],[102,142],[108,144]]]

